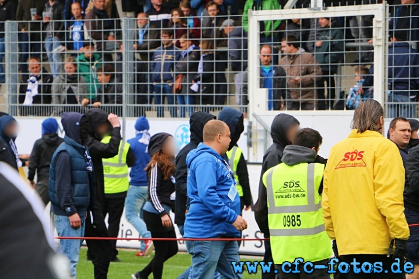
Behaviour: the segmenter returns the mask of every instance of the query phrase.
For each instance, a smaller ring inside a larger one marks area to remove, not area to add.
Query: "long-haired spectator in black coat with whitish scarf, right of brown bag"
[[[214,42],[213,40],[203,40],[200,44],[201,57],[198,64],[198,73],[192,79],[192,83],[196,83],[197,86],[191,86],[191,90],[199,92],[200,104],[202,108],[200,110],[206,111],[205,105],[214,105],[214,84],[215,84],[215,72],[214,72]]]

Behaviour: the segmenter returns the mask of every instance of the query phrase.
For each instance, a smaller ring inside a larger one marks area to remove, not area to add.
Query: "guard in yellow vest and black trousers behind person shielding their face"
[[[105,137],[102,143],[108,143],[110,137]],[[119,144],[119,153],[113,158],[103,159],[104,178],[105,178],[105,206],[104,215],[108,217],[109,237],[118,237],[119,223],[122,212],[124,211],[125,197],[128,187],[128,168],[135,164],[136,158],[128,142],[121,140]],[[116,257],[116,241],[111,241],[113,245],[111,261],[119,262]]]

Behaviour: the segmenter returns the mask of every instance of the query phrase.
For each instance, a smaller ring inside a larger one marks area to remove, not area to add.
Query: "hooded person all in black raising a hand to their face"
[[[89,122],[86,146],[92,156],[95,174],[95,206],[90,211],[85,237],[109,237],[105,224],[105,182],[102,159],[112,158],[119,152],[121,128],[118,116],[108,114],[100,108],[91,108],[85,113]],[[110,133],[108,143],[101,140]],[[87,240],[87,247],[95,266],[95,279],[106,279],[112,255],[112,244],[106,240]]]

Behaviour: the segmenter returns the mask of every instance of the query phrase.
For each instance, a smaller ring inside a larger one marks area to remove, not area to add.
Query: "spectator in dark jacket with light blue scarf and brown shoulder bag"
[[[192,80],[198,72],[199,60],[201,53],[199,47],[195,46],[188,35],[184,34],[180,40],[182,48],[182,57],[176,63],[176,74],[182,75],[182,89],[180,94],[176,95],[177,104],[179,105],[179,117],[185,117],[185,107],[180,105],[187,105],[186,110],[188,116],[191,117],[194,112],[193,105],[196,102],[196,92],[191,90]]]

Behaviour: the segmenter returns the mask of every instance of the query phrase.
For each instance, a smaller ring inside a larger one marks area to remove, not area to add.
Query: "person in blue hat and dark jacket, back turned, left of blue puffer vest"
[[[28,180],[41,197],[45,206],[49,202],[48,179],[52,155],[64,139],[58,137],[58,122],[55,118],[47,118],[42,122],[42,138],[37,139],[29,157]],[[34,181],[36,173],[36,183]]]

